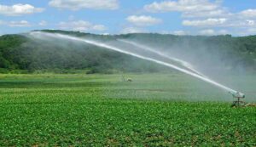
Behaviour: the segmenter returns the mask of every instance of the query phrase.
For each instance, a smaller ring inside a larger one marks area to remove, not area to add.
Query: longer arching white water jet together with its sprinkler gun
[[[152,61],[152,62],[160,64],[160,65],[165,65],[165,66],[170,67],[172,69],[175,69],[177,71],[181,71],[181,72],[183,72],[185,74],[188,74],[190,76],[194,76],[194,77],[196,77],[198,79],[201,79],[204,82],[211,83],[212,85],[214,85],[214,86],[216,86],[218,88],[222,88],[222,89],[228,91],[229,93],[231,93],[233,95],[234,98],[237,98],[238,101],[240,101],[241,98],[245,98],[245,94],[244,93],[240,93],[240,92],[238,92],[238,91],[236,91],[234,89],[228,88],[228,87],[226,87],[226,86],[224,86],[224,85],[222,85],[222,84],[220,84],[218,82],[214,82],[213,80],[209,79],[208,77],[201,76],[201,75],[198,75],[198,74],[196,74],[194,72],[185,70],[185,69],[183,69],[181,67],[178,67],[177,65],[172,65],[172,64],[169,64],[169,63],[157,60],[157,59],[152,59],[152,58],[140,55],[140,54],[131,53],[131,52],[122,50],[121,48],[116,48],[114,46],[108,45],[106,43],[96,42],[96,41],[84,39],[84,38],[81,38],[81,37],[71,37],[71,36],[63,35],[63,34],[59,34],[59,33],[47,33],[47,32],[41,32],[41,31],[30,32],[30,35],[32,35],[33,37],[40,37],[40,38],[42,36],[44,36],[44,37],[62,38],[62,39],[73,40],[73,41],[77,41],[77,42],[85,42],[85,43],[88,43],[88,44],[91,44],[91,45],[94,45],[94,46],[97,46],[97,47],[108,48],[110,50],[117,51],[119,53],[129,54],[129,55],[137,57],[139,59],[145,59],[145,60]],[[238,102],[238,103],[241,104],[240,102]],[[241,106],[241,105],[236,105],[236,106]]]

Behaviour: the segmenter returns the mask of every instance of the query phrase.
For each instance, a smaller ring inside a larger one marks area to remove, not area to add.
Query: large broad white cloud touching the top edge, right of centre
[[[227,8],[221,6],[222,0],[166,0],[144,6],[148,12],[181,12],[184,18],[227,17],[231,15]]]

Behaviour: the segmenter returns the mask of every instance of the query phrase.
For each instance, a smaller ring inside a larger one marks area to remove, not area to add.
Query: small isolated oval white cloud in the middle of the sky
[[[131,22],[133,25],[138,25],[138,26],[157,25],[162,22],[162,20],[160,19],[156,19],[154,17],[146,16],[146,15],[141,15],[141,16],[131,15],[127,17],[126,20]]]

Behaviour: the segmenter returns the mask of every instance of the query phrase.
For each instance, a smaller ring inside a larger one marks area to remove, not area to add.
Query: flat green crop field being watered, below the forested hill
[[[255,146],[256,109],[181,74],[0,75],[0,146]],[[256,101],[256,78],[224,77]],[[220,79],[221,80],[221,79]]]

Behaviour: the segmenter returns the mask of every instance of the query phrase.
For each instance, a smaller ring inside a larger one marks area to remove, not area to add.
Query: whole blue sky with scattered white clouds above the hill
[[[38,29],[100,34],[256,34],[255,0],[1,0],[0,35]]]

